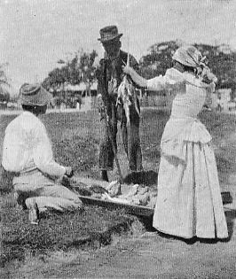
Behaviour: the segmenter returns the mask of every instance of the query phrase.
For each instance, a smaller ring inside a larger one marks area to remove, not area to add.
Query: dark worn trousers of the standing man
[[[138,104],[139,108],[139,104]],[[101,170],[112,170],[114,168],[114,151],[111,138],[106,126],[106,121],[102,118],[102,136],[99,152],[99,168]],[[142,152],[139,137],[140,117],[134,105],[130,105],[130,127],[127,127],[127,120],[122,105],[118,107],[112,103],[109,106],[109,127],[117,151],[116,135],[118,121],[121,123],[122,142],[124,150],[129,160],[131,171],[142,171]]]

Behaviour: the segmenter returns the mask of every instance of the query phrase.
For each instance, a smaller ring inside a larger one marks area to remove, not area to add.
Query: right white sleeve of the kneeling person
[[[41,125],[35,128],[35,134],[34,161],[36,167],[51,177],[62,177],[66,173],[66,168],[54,161],[51,142],[45,127]]]

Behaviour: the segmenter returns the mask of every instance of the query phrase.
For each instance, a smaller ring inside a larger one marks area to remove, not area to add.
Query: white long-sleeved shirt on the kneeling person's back
[[[59,178],[66,173],[65,167],[53,159],[43,122],[31,112],[22,112],[7,126],[2,165],[5,170],[20,174],[38,169]]]

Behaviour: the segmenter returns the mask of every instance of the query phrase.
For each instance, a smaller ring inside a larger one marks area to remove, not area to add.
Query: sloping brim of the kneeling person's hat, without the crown
[[[41,86],[40,89],[34,95],[24,96],[20,94],[19,103],[20,105],[38,105],[43,106],[50,103],[52,99],[51,93]]]

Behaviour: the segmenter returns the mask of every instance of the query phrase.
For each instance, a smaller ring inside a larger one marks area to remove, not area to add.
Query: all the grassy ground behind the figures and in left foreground
[[[156,182],[161,134],[168,118],[168,112],[156,110],[142,112],[140,136],[146,172],[139,177],[139,182],[150,187],[154,187]],[[200,118],[213,136],[219,178],[223,190],[228,190],[230,174],[236,169],[236,143],[234,143],[236,142],[234,133],[236,118],[215,112],[202,112]],[[4,128],[12,119],[13,116],[2,116],[1,144]],[[98,178],[98,140],[101,131],[98,114],[96,112],[54,113],[45,115],[43,121],[51,136],[55,157],[59,163],[74,167],[76,174]],[[128,164],[120,135],[118,136],[118,150],[122,173],[126,176],[126,181],[132,182],[127,171]],[[114,179],[117,176],[115,168],[110,178]],[[83,238],[95,236],[94,239],[96,239],[101,231],[117,223],[130,221],[130,217],[122,212],[88,207],[84,213],[46,215],[39,227],[32,228],[28,225],[27,213],[22,212],[13,201],[11,180],[12,174],[2,173],[0,190],[3,246],[1,251],[4,254],[4,260],[24,258],[28,251],[42,252],[42,250],[76,247],[83,243],[81,240]]]

